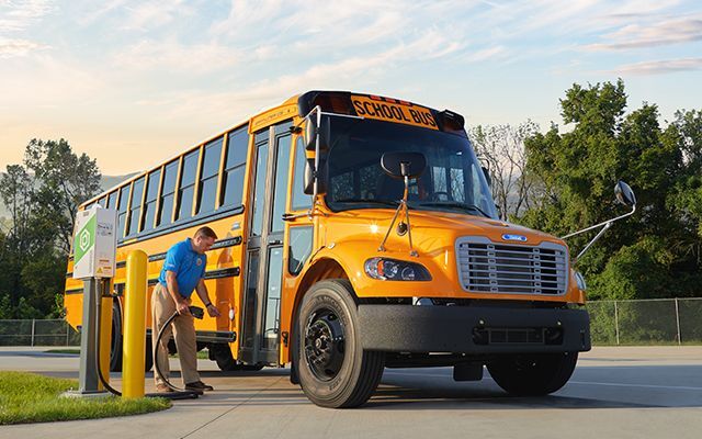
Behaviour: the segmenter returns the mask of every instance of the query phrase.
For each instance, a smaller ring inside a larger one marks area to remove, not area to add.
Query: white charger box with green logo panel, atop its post
[[[93,206],[76,215],[73,279],[112,278],[117,247],[117,211]]]

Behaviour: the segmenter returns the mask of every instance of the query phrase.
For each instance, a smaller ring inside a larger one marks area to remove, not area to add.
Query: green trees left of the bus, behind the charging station
[[[0,199],[10,211],[0,234],[2,313],[35,318],[60,312],[56,296],[64,290],[76,211],[99,183],[95,160],[76,155],[65,139],[33,139],[23,165],[8,166],[0,178]]]

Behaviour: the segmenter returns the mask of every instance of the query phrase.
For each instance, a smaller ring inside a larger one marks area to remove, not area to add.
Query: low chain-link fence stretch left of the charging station
[[[0,346],[80,346],[80,333],[61,319],[0,320]]]

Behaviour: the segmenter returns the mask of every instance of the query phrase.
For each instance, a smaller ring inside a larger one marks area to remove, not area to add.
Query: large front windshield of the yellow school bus
[[[495,202],[464,136],[410,125],[331,116],[327,205],[332,211],[396,206],[405,183],[381,167],[387,151],[422,153],[424,172],[410,180],[409,209],[497,218]]]

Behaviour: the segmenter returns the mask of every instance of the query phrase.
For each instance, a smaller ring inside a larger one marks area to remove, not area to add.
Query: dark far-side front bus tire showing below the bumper
[[[541,396],[563,387],[578,361],[578,352],[518,354],[487,364],[495,382],[506,392]]]

